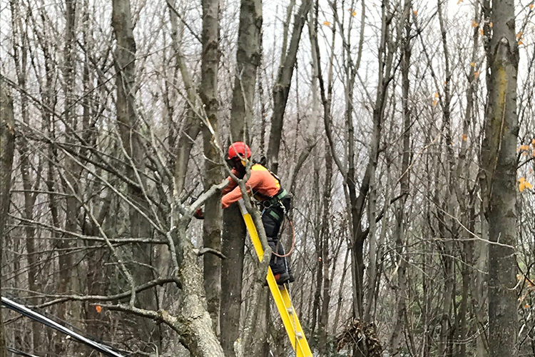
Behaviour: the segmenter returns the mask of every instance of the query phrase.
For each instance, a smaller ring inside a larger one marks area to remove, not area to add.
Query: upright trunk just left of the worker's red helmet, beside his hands
[[[219,65],[219,0],[203,0],[203,61],[201,63],[200,98],[203,100],[205,120],[203,126],[203,148],[205,154],[205,189],[220,183],[223,176],[220,153],[215,142],[218,135],[218,65]],[[221,251],[221,228],[223,211],[221,193],[205,201],[203,223],[203,244],[206,248]],[[208,311],[215,333],[219,336],[219,304],[221,292],[221,261],[214,254],[204,256],[204,286]]]

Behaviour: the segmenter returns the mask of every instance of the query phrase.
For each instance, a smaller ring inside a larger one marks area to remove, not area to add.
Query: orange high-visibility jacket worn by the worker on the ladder
[[[238,171],[233,170],[233,174],[238,176]],[[242,193],[238,183],[236,183],[230,176],[227,178],[230,183],[223,188],[223,198],[221,203],[223,208],[227,208],[234,202],[240,201]],[[263,201],[266,198],[276,196],[280,191],[280,182],[273,176],[269,170],[260,164],[254,164],[251,167],[251,175],[249,180],[245,183],[245,188],[250,193],[253,193],[255,198]]]

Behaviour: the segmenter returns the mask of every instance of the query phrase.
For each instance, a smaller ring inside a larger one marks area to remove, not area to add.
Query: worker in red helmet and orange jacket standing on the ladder
[[[245,166],[250,160],[251,151],[249,146],[243,141],[237,141],[228,148],[227,162],[233,169],[233,174],[238,178],[245,177]],[[221,203],[223,208],[238,202],[242,198],[242,193],[238,184],[229,176],[229,184],[223,189]],[[270,245],[273,254],[271,255],[270,267],[275,275],[277,284],[292,283],[295,279],[292,269],[286,258],[286,253],[282,244],[279,243],[279,231],[285,213],[290,209],[290,196],[280,185],[280,179],[272,174],[264,166],[255,163],[251,166],[250,177],[245,183],[247,191],[252,193],[262,208],[262,223],[267,236],[267,243]]]

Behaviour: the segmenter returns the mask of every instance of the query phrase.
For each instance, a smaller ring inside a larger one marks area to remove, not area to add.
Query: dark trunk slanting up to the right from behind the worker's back
[[[285,56],[285,61],[279,66],[277,81],[273,86],[273,114],[271,116],[270,139],[267,145],[267,166],[271,171],[275,172],[275,174],[277,173],[279,166],[278,160],[280,140],[282,139],[282,124],[284,121],[288,94],[290,94],[293,69],[295,67],[295,62],[297,61],[297,49],[299,49],[302,28],[305,26],[310,6],[312,6],[312,0],[302,0],[300,8],[297,11],[297,14],[295,14],[290,46],[288,47],[287,52],[283,54],[283,56]]]

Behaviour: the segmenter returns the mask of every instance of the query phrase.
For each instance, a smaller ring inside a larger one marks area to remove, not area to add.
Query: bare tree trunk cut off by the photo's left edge
[[[9,212],[9,190],[11,188],[11,169],[15,154],[15,116],[13,100],[4,81],[0,80],[0,266],[2,266],[2,247],[4,230]],[[0,274],[0,287],[1,287]],[[0,357],[7,357],[6,335],[0,313]]]

